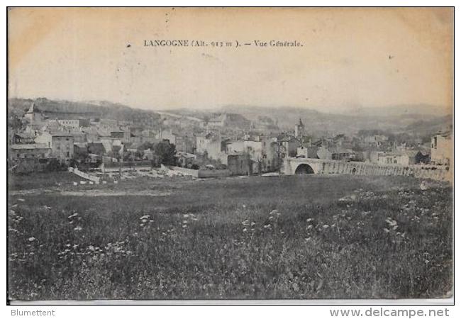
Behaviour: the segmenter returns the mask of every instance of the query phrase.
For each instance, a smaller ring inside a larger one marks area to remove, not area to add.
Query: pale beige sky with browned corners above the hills
[[[452,9],[15,8],[8,20],[10,97],[152,110],[452,108]],[[235,47],[254,40],[302,46]]]

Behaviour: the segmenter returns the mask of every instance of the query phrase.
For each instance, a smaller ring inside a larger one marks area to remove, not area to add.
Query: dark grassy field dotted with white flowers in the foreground
[[[9,178],[10,298],[443,298],[452,291],[447,184],[422,191],[409,177],[72,180],[67,172]],[[87,193],[60,193],[77,187]],[[91,196],[92,189],[106,195]],[[110,196],[120,190],[126,194]]]

